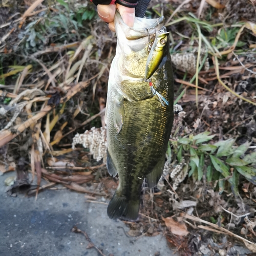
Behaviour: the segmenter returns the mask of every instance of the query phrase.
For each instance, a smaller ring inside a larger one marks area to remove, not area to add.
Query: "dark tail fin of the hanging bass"
[[[115,195],[111,199],[108,206],[108,216],[110,219],[123,218],[126,220],[136,220],[139,215],[140,198],[139,199],[127,199],[123,195]]]

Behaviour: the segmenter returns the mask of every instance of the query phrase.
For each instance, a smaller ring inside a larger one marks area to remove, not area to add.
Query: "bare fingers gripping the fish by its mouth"
[[[119,4],[116,5],[98,5],[98,15],[106,23],[109,23],[109,28],[115,32],[114,15],[116,9],[120,12],[123,22],[133,27],[135,18],[135,8],[125,7]]]

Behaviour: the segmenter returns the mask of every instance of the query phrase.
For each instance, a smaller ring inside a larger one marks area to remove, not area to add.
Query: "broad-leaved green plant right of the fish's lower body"
[[[172,154],[177,156],[178,164],[188,163],[188,177],[193,177],[195,181],[202,180],[204,176],[207,182],[214,182],[215,186],[218,183],[220,193],[230,188],[238,196],[241,176],[256,184],[256,152],[245,155],[250,143],[235,147],[234,139],[212,144],[210,141],[214,137],[204,132],[188,138],[172,139],[173,152],[167,152],[168,158]]]

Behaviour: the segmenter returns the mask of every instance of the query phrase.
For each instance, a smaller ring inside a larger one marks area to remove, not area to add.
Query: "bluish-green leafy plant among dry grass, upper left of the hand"
[[[18,35],[29,51],[42,50],[49,44],[80,40],[90,34],[88,21],[97,16],[92,5],[75,8],[63,0],[57,2],[55,12],[43,13]]]

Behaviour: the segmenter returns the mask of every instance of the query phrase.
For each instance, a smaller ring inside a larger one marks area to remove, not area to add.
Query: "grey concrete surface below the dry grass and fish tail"
[[[106,205],[86,203],[83,194],[70,190],[45,190],[34,197],[7,195],[4,181],[14,172],[0,176],[1,256],[98,256],[83,234],[73,233],[76,225],[108,256],[174,255],[165,237],[126,237],[121,221],[106,215]],[[122,227],[122,228],[120,228]]]

